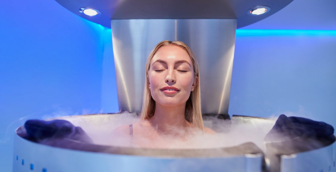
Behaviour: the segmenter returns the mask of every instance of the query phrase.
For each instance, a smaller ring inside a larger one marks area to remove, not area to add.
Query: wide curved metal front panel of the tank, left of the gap
[[[16,156],[18,160],[16,160]],[[57,148],[26,140],[15,134],[13,151],[13,172],[43,171],[245,171],[246,161],[257,161],[261,167],[261,158],[250,159],[244,155],[233,157],[170,157],[170,156],[132,156],[120,154],[95,153]],[[24,160],[24,165],[22,165]],[[34,170],[30,169],[34,165]],[[261,170],[260,170],[261,171]],[[259,171],[257,171],[259,172]]]

